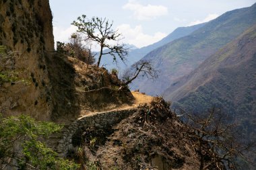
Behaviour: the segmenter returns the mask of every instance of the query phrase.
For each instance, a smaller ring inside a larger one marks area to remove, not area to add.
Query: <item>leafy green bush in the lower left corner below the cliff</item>
[[[58,157],[39,140],[61,128],[52,122],[36,122],[25,115],[7,118],[0,115],[0,168],[9,165],[18,169],[78,169],[79,165]]]

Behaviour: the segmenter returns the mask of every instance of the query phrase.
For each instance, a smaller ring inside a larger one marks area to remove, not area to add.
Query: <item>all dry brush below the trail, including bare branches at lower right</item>
[[[117,126],[87,128],[73,138],[84,169],[238,169],[253,143],[234,134],[219,110],[190,116],[187,124],[154,97]],[[239,162],[240,160],[240,162]]]

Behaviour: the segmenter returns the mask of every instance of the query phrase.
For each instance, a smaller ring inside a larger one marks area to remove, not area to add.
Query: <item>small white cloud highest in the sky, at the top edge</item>
[[[162,5],[141,5],[134,0],[130,0],[123,6],[123,9],[133,11],[133,15],[139,20],[150,20],[168,14],[168,8]]]

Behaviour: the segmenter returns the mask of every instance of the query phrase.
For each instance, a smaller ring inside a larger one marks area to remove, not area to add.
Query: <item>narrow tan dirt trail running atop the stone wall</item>
[[[115,111],[115,110],[129,110],[131,108],[137,108],[139,105],[143,105],[144,103],[150,103],[152,100],[152,96],[146,95],[143,93],[139,93],[137,91],[131,91],[133,96],[135,97],[135,100],[133,101],[132,104],[123,104],[123,105],[109,105],[108,107],[100,110],[91,110],[90,108],[81,110],[79,116],[65,116],[63,118],[59,118],[58,120],[55,120],[57,124],[70,124],[74,120],[84,117],[84,116],[89,116],[93,114],[97,114],[98,112],[108,112],[108,111]]]

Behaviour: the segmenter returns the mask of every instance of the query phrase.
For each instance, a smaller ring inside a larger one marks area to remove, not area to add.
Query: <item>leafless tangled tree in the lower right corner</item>
[[[221,110],[212,108],[205,114],[186,114],[187,132],[200,159],[200,170],[238,169],[238,159],[253,151],[254,142],[245,142],[236,124]],[[231,123],[230,123],[231,122]],[[240,138],[239,138],[240,137]]]

